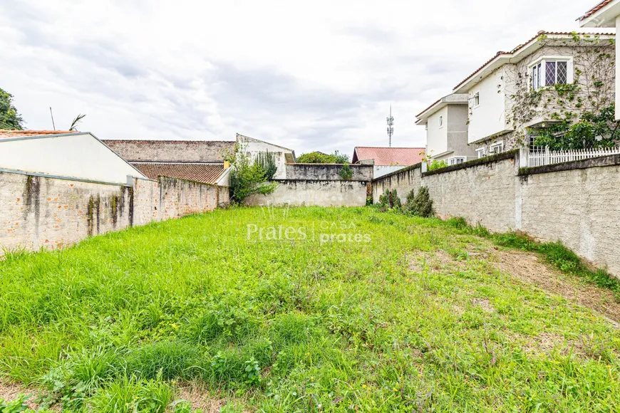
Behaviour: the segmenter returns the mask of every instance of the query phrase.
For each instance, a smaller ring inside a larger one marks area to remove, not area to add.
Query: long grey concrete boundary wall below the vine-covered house
[[[373,200],[397,189],[404,201],[425,186],[440,218],[562,241],[620,277],[620,155],[525,169],[519,161],[511,151],[424,174],[416,165],[375,179]]]

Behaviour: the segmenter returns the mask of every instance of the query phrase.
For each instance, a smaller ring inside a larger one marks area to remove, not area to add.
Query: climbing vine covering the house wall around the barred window
[[[544,38],[543,34],[539,40]],[[527,136],[534,137],[534,145],[552,150],[616,145],[620,132],[614,115],[614,41],[573,33],[568,39],[549,39],[545,45],[517,63],[516,70],[505,71],[504,83],[512,85],[512,90],[505,90],[510,99],[506,122],[515,130],[507,135],[507,145],[525,145]],[[564,56],[562,48],[567,47],[573,56],[572,83],[534,90],[530,64],[542,56]]]

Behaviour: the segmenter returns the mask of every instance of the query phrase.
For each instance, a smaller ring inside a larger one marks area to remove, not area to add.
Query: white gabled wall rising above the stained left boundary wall
[[[90,133],[0,139],[0,168],[116,184],[127,175],[146,179]]]

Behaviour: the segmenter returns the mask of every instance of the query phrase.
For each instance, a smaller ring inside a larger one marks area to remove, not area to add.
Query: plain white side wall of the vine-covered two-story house
[[[505,68],[497,69],[467,91],[470,107],[467,142],[472,143],[511,129],[510,125],[506,125],[504,74]],[[476,93],[480,93],[480,105],[477,107],[474,103]]]

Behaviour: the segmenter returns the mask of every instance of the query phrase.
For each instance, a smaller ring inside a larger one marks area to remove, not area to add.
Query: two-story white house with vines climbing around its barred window
[[[467,142],[477,156],[532,145],[539,128],[606,105],[614,95],[614,39],[541,31],[467,76],[453,92],[467,95]]]

